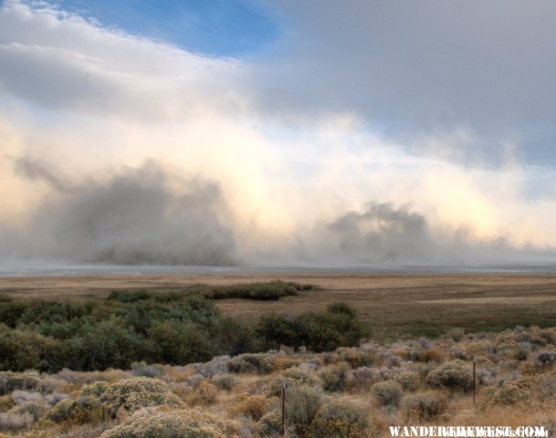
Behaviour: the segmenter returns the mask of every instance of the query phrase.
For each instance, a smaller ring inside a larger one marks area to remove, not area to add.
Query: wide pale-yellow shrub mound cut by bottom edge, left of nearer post
[[[136,412],[100,438],[235,438],[237,423],[194,409]]]

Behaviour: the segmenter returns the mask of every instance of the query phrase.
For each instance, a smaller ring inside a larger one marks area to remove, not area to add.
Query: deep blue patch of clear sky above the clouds
[[[60,8],[102,26],[217,57],[260,53],[278,25],[249,0],[58,0]]]

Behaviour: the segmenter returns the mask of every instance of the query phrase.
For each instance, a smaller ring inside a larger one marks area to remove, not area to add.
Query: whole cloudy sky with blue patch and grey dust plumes
[[[556,260],[551,0],[0,2],[0,263]]]

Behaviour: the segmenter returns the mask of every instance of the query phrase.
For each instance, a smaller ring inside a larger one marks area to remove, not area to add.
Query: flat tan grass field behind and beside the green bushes
[[[225,299],[224,312],[254,319],[267,312],[299,314],[345,301],[381,341],[435,337],[453,327],[490,331],[556,327],[556,276],[498,275],[185,275],[0,277],[0,294],[16,297],[104,297],[116,289],[181,290],[281,279],[317,291],[279,301]]]

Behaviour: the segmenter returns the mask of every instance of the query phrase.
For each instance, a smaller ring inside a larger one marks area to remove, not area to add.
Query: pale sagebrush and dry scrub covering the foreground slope
[[[472,359],[477,363],[473,403]],[[544,425],[556,432],[556,329],[515,328],[186,366],[0,372],[0,436],[389,436],[389,425]]]

